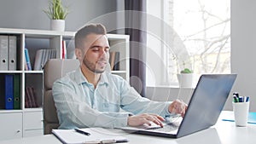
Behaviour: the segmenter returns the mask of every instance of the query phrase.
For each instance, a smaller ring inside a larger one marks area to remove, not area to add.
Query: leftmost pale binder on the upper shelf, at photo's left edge
[[[8,70],[8,36],[0,35],[0,70]]]

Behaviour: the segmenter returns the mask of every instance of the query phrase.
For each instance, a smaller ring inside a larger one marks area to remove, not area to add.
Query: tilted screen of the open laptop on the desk
[[[201,75],[177,137],[205,130],[216,124],[235,80],[236,74]]]

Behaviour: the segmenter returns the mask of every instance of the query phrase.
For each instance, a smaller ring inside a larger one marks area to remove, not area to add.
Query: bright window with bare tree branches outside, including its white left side
[[[192,68],[197,78],[230,73],[230,0],[148,0],[147,10],[147,85],[177,85],[183,67]],[[159,57],[155,66],[152,55]]]

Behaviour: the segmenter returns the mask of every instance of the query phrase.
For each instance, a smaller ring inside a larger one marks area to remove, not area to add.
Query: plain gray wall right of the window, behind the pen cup
[[[231,71],[238,74],[234,90],[250,96],[253,112],[256,112],[255,6],[255,0],[231,0]]]

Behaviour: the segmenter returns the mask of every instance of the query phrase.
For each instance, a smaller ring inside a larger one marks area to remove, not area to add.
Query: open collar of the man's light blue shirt
[[[80,66],[76,69],[74,79],[77,82],[77,84],[89,84],[88,80],[84,77],[83,72],[81,71]],[[100,81],[98,84],[109,84],[109,79],[108,79],[108,72],[103,72],[100,78]]]

